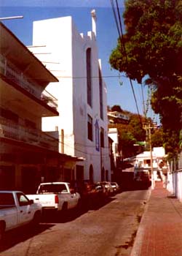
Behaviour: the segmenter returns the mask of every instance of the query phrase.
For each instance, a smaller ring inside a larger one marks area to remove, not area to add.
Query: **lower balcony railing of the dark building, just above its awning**
[[[31,145],[58,151],[58,140],[39,129],[20,126],[7,118],[0,116],[0,138],[9,138]]]

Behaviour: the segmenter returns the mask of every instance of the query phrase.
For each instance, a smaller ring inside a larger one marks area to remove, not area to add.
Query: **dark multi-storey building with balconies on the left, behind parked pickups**
[[[59,115],[46,91],[58,78],[3,23],[0,37],[0,189],[35,192],[77,159],[59,154],[58,132],[41,131],[42,117]]]

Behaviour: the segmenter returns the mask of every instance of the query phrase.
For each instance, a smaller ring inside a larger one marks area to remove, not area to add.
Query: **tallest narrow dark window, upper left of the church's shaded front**
[[[87,63],[87,103],[92,107],[91,48],[86,52]]]

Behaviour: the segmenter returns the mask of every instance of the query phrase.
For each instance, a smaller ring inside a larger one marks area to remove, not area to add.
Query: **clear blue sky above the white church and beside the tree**
[[[119,1],[121,14],[124,0]],[[124,74],[111,69],[108,63],[111,50],[116,47],[118,38],[114,15],[109,0],[1,0],[0,17],[23,15],[23,19],[4,20],[6,25],[25,45],[32,44],[33,20],[58,18],[71,15],[80,33],[92,30],[90,11],[96,10],[97,41],[99,58],[102,61],[103,78],[108,91],[108,105],[120,105],[123,110],[137,113],[130,81]],[[119,82],[122,82],[122,86]],[[139,112],[143,113],[141,85],[133,81]],[[145,100],[146,91],[144,90]],[[152,113],[149,113],[154,117]]]

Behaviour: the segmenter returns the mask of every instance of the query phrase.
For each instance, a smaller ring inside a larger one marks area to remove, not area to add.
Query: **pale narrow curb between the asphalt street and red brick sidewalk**
[[[145,207],[145,209],[143,211],[143,215],[141,217],[141,223],[138,227],[130,256],[140,256],[141,255],[141,245],[142,245],[143,234],[144,234],[144,230],[145,230],[145,217],[146,217],[146,212],[148,211],[148,208],[149,208],[149,199],[151,197],[151,190],[152,189],[149,190],[149,195],[146,200],[146,207]]]

